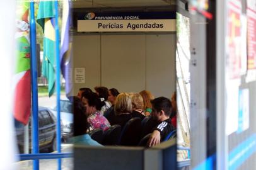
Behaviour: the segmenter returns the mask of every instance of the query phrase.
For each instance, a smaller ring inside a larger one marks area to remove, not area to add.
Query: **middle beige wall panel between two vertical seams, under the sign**
[[[102,36],[102,85],[136,92],[146,85],[146,35]]]

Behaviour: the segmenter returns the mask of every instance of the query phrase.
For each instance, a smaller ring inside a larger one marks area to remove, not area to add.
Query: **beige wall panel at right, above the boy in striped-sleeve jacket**
[[[176,35],[147,35],[146,88],[171,98],[176,91]]]

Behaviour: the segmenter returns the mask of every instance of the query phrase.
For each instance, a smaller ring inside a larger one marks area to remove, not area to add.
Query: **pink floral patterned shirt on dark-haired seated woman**
[[[101,128],[103,131],[105,131],[110,127],[110,123],[108,122],[107,118],[105,118],[100,111],[96,111],[95,113],[91,114],[87,120],[90,123],[92,130]]]

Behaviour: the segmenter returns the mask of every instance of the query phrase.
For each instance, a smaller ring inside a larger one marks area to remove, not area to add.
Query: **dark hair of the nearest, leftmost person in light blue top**
[[[86,108],[81,99],[76,96],[69,97],[69,101],[73,103],[74,136],[84,135],[86,130],[90,127],[90,124],[87,122],[87,116],[85,115]]]

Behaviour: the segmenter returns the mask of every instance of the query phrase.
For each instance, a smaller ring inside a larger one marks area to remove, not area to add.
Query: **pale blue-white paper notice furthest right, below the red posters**
[[[249,128],[249,89],[239,91],[238,130],[241,133]]]

